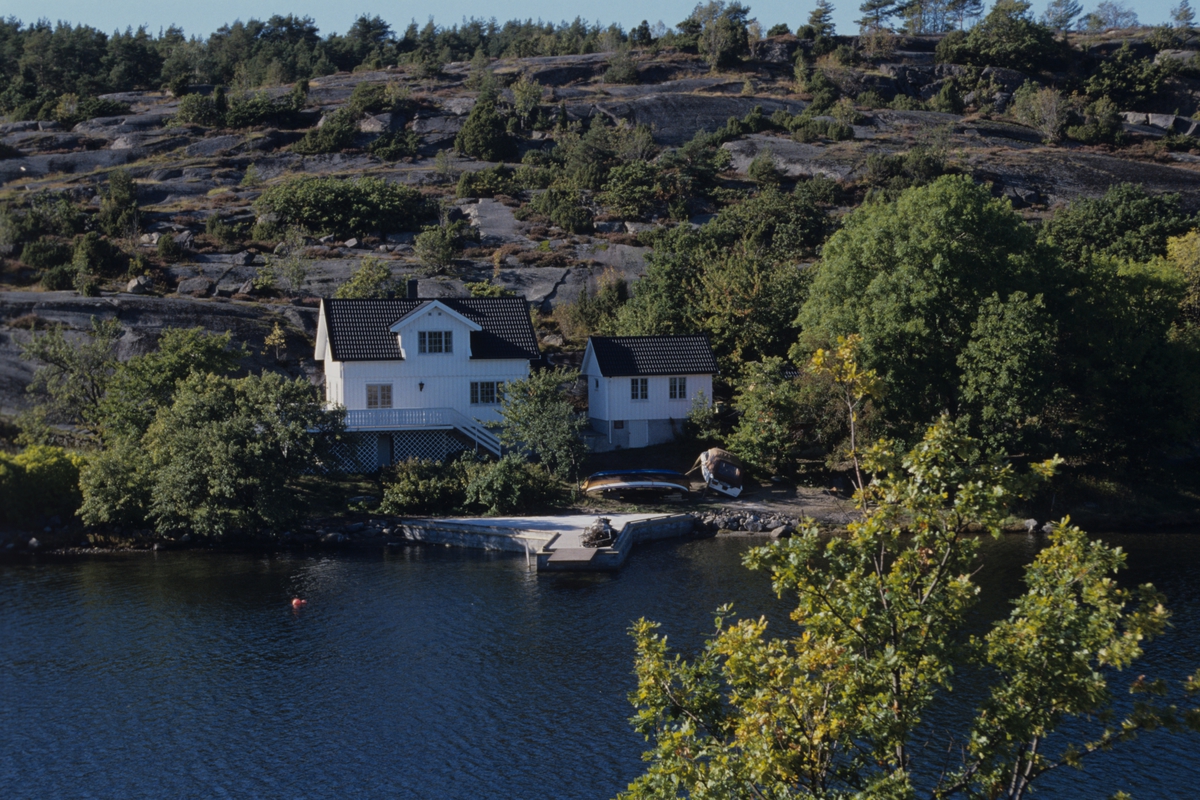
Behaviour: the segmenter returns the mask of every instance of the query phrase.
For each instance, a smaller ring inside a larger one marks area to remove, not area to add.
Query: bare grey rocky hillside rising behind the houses
[[[46,267],[28,263],[34,260],[25,255],[30,251],[10,237],[0,273],[0,411],[24,405],[32,367],[18,355],[30,331],[48,324],[82,330],[92,315],[121,320],[130,331],[128,354],[150,347],[157,330],[174,325],[234,330],[262,353],[263,338],[278,321],[288,331],[287,366],[317,378],[308,349],[316,299],[332,294],[367,257],[380,259],[397,279],[420,278],[424,295],[462,295],[467,283],[492,283],[524,295],[548,319],[584,287],[594,289],[606,271],[636,281],[656,228],[703,224],[736,201],[739,192],[754,188],[755,163],[773,164],[785,185],[814,176],[833,179],[841,191],[835,213],[860,201],[878,181],[880,164],[887,163],[881,157],[914,150],[936,152],[944,170],[990,184],[996,196],[1034,217],[1075,198],[1103,194],[1122,181],[1152,193],[1178,193],[1186,207],[1200,209],[1200,152],[1164,146],[1166,139],[1186,144],[1187,137],[1200,133],[1192,119],[1142,107],[1124,114],[1121,146],[1045,144],[1039,132],[1006,114],[1028,76],[936,64],[937,41],[900,40],[884,58],[845,59],[850,65],[817,60],[824,82],[850,98],[840,119],[812,115],[815,127],[803,128],[804,134],[800,127],[763,125],[722,137],[715,146],[730,157],[719,186],[670,210],[649,203],[637,215],[622,213],[599,192],[584,191],[588,221],[576,228],[578,233],[533,209],[541,190],[514,182],[509,173],[484,173],[498,176],[494,191],[472,190],[470,181],[463,181],[466,173],[498,164],[454,151],[479,96],[478,66],[468,62],[445,65],[432,77],[404,66],[313,79],[302,108],[286,125],[232,128],[182,121],[180,107],[187,97],[181,101],[168,92],[107,96],[126,104],[128,113],[82,121],[71,130],[53,121],[0,125],[0,142],[10,156],[0,161],[0,200],[17,210],[12,213],[19,216],[31,198],[50,196],[96,210],[113,170],[120,168],[134,181],[138,206],[137,230],[120,243],[126,255],[140,255],[125,273],[104,277],[95,288],[98,296],[84,297],[73,290],[44,290]],[[1096,58],[1105,58],[1117,44],[1098,41],[1090,47]],[[661,157],[698,132],[716,132],[731,118],[754,118],[756,109],[764,118],[800,119],[815,102],[814,89],[822,89],[810,80],[802,91],[797,83],[793,64],[809,46],[793,36],[762,40],[749,60],[720,73],[697,55],[643,52],[631,59],[634,72],[622,84],[605,79],[612,76],[608,54],[493,61],[490,67],[503,108],[520,102],[518,88],[533,82],[541,88],[533,121],[509,125],[514,149],[504,161],[514,169],[523,163],[535,170],[560,133],[599,124],[626,132],[646,126],[652,140],[640,145],[640,154],[625,157],[637,162]],[[1183,48],[1154,58],[1189,60],[1195,53],[1187,47],[1183,42]],[[391,110],[360,109],[355,130],[335,152],[305,146],[326,124],[344,119],[338,113],[368,94],[364,85],[400,100]],[[912,110],[944,97],[948,85],[976,88],[956,98],[962,113]],[[1171,110],[1194,109],[1198,86],[1175,77],[1169,91],[1160,94],[1166,100],[1156,102],[1172,103]],[[200,96],[210,96],[212,89],[192,88]],[[281,86],[268,95],[283,102],[295,92]],[[846,112],[847,107],[853,110]],[[402,142],[408,152],[388,160],[378,148],[372,152],[379,142]],[[298,175],[374,176],[414,187],[427,200],[426,218],[396,225],[407,230],[311,231],[302,247],[306,269],[299,285],[287,291],[264,289],[256,279],[276,252],[282,255],[283,234],[270,230],[278,219],[257,201],[269,187]],[[442,200],[440,215],[433,200]],[[416,229],[458,221],[469,229],[460,227],[467,235],[455,258],[437,265],[422,261],[414,248]],[[160,246],[163,237],[178,248]],[[550,321],[541,335],[551,349],[564,344]],[[262,361],[268,366],[276,360],[264,355]]]

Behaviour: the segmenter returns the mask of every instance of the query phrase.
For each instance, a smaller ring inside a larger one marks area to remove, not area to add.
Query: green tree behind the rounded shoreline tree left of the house
[[[155,415],[170,407],[179,381],[192,373],[229,375],[248,355],[233,335],[203,327],[168,327],[155,350],[116,365],[97,409],[104,440],[140,438]]]

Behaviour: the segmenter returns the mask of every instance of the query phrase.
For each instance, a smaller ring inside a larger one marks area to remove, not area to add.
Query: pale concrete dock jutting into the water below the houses
[[[686,513],[618,513],[606,517],[616,531],[610,547],[583,547],[583,533],[595,515],[558,517],[482,517],[475,519],[410,519],[403,523],[410,541],[524,553],[539,572],[613,571],[634,545],[692,533]]]

